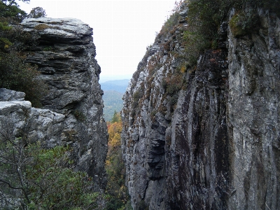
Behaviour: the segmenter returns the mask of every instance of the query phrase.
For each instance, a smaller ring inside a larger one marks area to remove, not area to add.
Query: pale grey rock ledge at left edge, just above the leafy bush
[[[41,141],[45,148],[62,145],[60,135],[65,116],[48,109],[31,108],[27,101],[0,102],[0,127],[11,137]]]

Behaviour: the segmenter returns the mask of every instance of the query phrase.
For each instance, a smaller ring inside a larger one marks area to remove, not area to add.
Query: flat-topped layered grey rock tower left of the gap
[[[76,170],[94,177],[97,189],[105,188],[108,137],[92,29],[80,20],[69,18],[30,18],[22,22],[22,27],[38,41],[38,45],[28,49],[27,62],[38,66],[48,85],[43,109],[27,110],[27,124],[22,129],[34,141],[43,137],[48,141],[47,147],[73,146]],[[48,124],[45,118],[59,126],[41,129]]]

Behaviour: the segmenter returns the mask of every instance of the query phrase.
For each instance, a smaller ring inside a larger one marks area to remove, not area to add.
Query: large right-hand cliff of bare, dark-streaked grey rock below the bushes
[[[124,95],[122,148],[134,209],[279,209],[280,20],[233,36],[190,68],[178,25],[159,34]],[[230,19],[236,14],[232,10]]]

